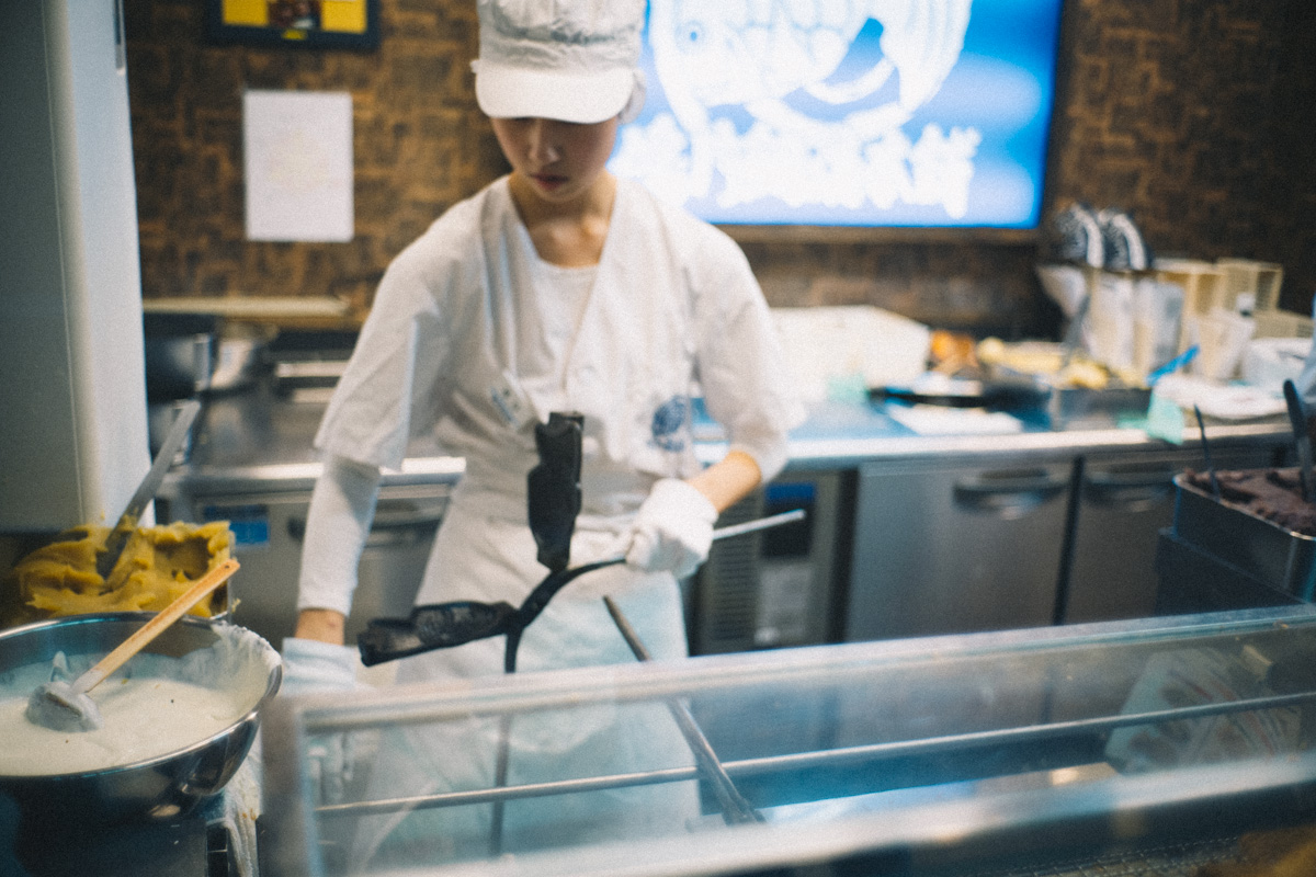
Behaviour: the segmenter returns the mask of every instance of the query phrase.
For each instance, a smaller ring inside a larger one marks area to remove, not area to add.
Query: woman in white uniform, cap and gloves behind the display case
[[[325,413],[296,636],[284,643],[293,690],[350,684],[355,655],[343,646],[343,619],[380,471],[401,465],[411,437],[433,431],[466,460],[417,604],[520,605],[547,573],[526,523],[534,425],[551,412],[584,415],[571,563],[622,554],[626,564],[554,597],[521,640],[517,671],[534,672],[634,660],[603,596],[620,604],[655,660],[683,657],[678,580],[707,557],[717,514],[780,471],[799,419],[738,247],[605,168],[619,125],[644,100],[644,0],[478,5],[476,97],[512,172],[393,260]],[[729,435],[725,458],[707,468],[694,455],[692,392]],[[497,638],[404,659],[397,681],[501,672]],[[508,781],[690,763],[665,713],[633,713],[513,724]],[[384,794],[490,785],[492,744],[482,749],[470,736],[491,738],[490,727],[446,740],[432,730],[399,734],[388,746],[407,757],[375,768]],[[554,799],[553,831],[571,822],[576,839],[645,831],[665,809],[688,817],[690,792]],[[545,805],[521,803],[507,807],[509,851],[544,841],[536,826]],[[491,809],[462,810],[472,811],[466,822],[450,810],[417,811],[408,831],[382,819],[365,847],[374,851],[390,832],[404,839],[400,849],[441,835],[445,857],[476,855]]]

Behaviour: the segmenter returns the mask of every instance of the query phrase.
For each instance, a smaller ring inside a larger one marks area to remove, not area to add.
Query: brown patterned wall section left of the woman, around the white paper
[[[129,99],[146,296],[368,305],[388,260],[507,166],[475,107],[474,3],[384,0],[376,51],[213,46],[199,0],[129,0]],[[245,239],[242,92],[349,91],[355,237]]]

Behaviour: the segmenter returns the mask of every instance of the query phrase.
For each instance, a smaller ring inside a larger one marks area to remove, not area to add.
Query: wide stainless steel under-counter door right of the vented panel
[[[1051,623],[1071,465],[862,467],[846,640]]]

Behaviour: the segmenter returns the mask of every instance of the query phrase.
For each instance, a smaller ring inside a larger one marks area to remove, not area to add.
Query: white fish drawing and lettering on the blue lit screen
[[[651,0],[670,113],[624,133],[619,170],[676,201],[711,191],[724,206],[901,200],[962,216],[980,135],[904,126],[959,60],[970,5]]]

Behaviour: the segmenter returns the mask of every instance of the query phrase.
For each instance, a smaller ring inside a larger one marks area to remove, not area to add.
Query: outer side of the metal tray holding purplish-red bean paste
[[[1174,476],[1174,535],[1258,581],[1305,602],[1316,596],[1316,539],[1240,506],[1217,501]]]

